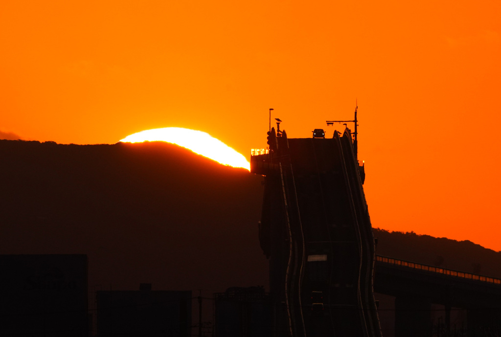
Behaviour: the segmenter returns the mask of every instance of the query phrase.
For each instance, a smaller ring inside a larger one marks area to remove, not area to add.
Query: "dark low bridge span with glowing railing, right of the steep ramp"
[[[374,291],[395,297],[395,336],[427,336],[431,304],[444,307],[451,332],[451,309],[466,311],[467,336],[497,335],[501,327],[501,279],[376,256]]]

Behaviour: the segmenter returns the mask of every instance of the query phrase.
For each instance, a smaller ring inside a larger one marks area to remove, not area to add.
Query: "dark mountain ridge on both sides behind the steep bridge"
[[[0,181],[0,254],[87,254],[102,289],[268,288],[263,178],[244,169],[163,142],[0,140]],[[501,253],[470,241],[374,233],[377,254],[501,277]]]

